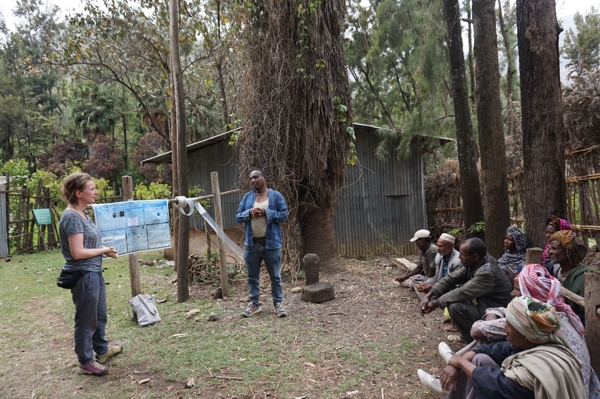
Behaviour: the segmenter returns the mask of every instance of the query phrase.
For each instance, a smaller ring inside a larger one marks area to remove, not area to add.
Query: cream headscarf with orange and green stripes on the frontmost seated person
[[[558,333],[558,314],[554,307],[547,303],[527,296],[515,298],[506,308],[506,320],[533,343],[566,344],[562,335]]]

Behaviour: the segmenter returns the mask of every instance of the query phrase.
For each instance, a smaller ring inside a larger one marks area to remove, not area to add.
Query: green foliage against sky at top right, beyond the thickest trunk
[[[577,72],[600,67],[600,9],[590,8],[586,15],[575,14],[576,31],[565,34],[562,53]]]

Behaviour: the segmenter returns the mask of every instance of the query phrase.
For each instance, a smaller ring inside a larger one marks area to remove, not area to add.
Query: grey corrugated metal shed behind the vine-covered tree
[[[338,194],[334,218],[337,248],[340,255],[370,256],[384,253],[416,254],[409,240],[414,232],[427,228],[423,160],[420,149],[408,159],[391,157],[387,161],[375,156],[379,142],[377,127],[354,125],[359,164],[349,166],[346,184]],[[222,133],[188,146],[188,182],[205,194],[212,192],[210,172],[219,173],[221,191],[240,187],[237,160],[228,144],[234,131]],[[440,143],[449,140],[440,138]],[[418,140],[414,141],[419,146]],[[144,160],[170,162],[165,153]],[[235,212],[243,193],[222,197],[225,228],[237,225]],[[212,207],[208,209],[212,213]],[[213,215],[214,217],[214,215]],[[192,216],[191,226],[204,229],[200,216]]]

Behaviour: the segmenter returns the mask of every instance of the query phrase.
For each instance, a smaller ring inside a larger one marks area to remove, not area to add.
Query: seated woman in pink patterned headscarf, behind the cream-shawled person
[[[600,398],[600,380],[591,367],[590,353],[583,338],[584,328],[579,317],[560,296],[560,282],[550,276],[545,267],[530,264],[523,268],[515,279],[513,295],[530,296],[554,306],[561,324],[561,334],[582,363],[583,382],[586,387],[586,398]],[[488,309],[490,311],[490,309]],[[487,313],[487,312],[486,312]],[[489,341],[506,338],[500,330],[506,325],[506,319],[499,318],[491,321],[478,321],[471,328],[471,336],[479,341]],[[477,338],[476,338],[477,337]]]

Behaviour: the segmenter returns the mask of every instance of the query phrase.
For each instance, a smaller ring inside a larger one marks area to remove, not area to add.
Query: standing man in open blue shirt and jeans
[[[250,173],[253,190],[247,192],[235,214],[238,223],[245,223],[244,261],[248,273],[250,303],[242,316],[250,317],[260,307],[260,268],[262,261],[271,277],[271,296],[278,317],[287,313],[283,307],[281,286],[281,226],[287,221],[287,204],[278,191],[267,187],[267,174],[262,169]]]

